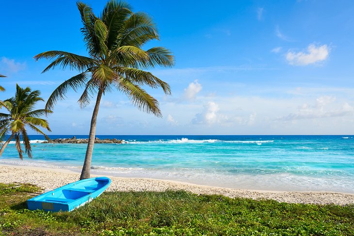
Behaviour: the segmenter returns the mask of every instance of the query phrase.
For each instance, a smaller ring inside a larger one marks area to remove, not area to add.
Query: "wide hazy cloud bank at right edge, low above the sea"
[[[278,120],[291,121],[340,117],[354,114],[354,108],[348,103],[344,103],[343,105],[338,106],[337,104],[334,104],[335,101],[336,97],[334,96],[321,96],[316,99],[316,103],[314,105],[305,103],[299,107],[298,112],[290,113],[289,115],[283,116]]]

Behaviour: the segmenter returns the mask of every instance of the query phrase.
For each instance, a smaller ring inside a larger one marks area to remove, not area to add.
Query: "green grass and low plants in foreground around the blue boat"
[[[73,212],[29,211],[28,192],[38,190],[0,184],[0,235],[354,235],[354,205],[107,192]]]

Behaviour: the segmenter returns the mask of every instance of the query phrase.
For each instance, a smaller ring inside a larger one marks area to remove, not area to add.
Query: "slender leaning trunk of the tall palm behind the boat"
[[[98,115],[99,103],[101,101],[102,93],[103,91],[99,89],[97,94],[97,99],[96,99],[96,105],[91,118],[89,140],[87,143],[85,161],[83,162],[80,179],[90,178],[92,152],[94,150],[94,144],[95,144],[97,115]]]

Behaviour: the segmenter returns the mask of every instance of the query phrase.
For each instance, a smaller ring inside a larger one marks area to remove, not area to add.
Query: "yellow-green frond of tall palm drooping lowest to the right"
[[[127,94],[130,101],[138,109],[162,117],[159,102],[138,85],[131,83],[128,79],[122,78],[119,80],[119,83],[117,83],[117,88]]]

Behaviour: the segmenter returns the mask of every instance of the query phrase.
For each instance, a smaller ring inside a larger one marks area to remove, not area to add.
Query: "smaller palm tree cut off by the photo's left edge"
[[[7,133],[10,133],[8,140],[0,149],[0,157],[4,152],[5,147],[15,137],[16,148],[18,155],[22,160],[21,139],[25,146],[25,153],[32,158],[32,149],[30,139],[27,135],[26,126],[40,133],[48,139],[48,136],[43,133],[37,126],[41,126],[50,131],[47,120],[39,118],[40,116],[51,113],[51,110],[39,109],[33,110],[38,101],[44,101],[38,90],[31,91],[29,87],[23,89],[16,84],[16,94],[14,97],[0,101],[1,107],[6,108],[10,113],[0,113],[0,139],[3,139]]]

